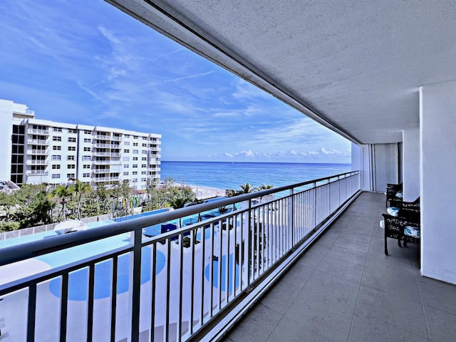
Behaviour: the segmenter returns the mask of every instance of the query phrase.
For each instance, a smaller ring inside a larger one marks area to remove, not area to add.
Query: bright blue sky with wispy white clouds
[[[350,162],[351,143],[101,0],[4,0],[0,98],[162,134],[162,160]]]

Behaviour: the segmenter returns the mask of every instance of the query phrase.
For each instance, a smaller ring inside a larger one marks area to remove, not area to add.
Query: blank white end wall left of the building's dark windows
[[[13,101],[0,100],[0,180],[11,180]]]

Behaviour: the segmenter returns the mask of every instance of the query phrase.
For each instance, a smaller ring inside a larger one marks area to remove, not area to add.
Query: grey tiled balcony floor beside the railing
[[[420,276],[388,239],[385,195],[363,193],[224,341],[456,341],[456,286]]]

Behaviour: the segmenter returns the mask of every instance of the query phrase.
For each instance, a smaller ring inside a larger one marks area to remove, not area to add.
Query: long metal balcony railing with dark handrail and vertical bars
[[[11,341],[207,339],[209,326],[226,323],[222,311],[245,309],[242,299],[284,271],[358,192],[359,172],[347,172],[5,247],[0,271],[15,272],[0,284],[2,333]]]

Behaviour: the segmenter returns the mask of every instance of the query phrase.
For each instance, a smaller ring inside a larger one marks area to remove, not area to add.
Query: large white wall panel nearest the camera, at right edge
[[[456,82],[420,88],[421,272],[456,284]]]

